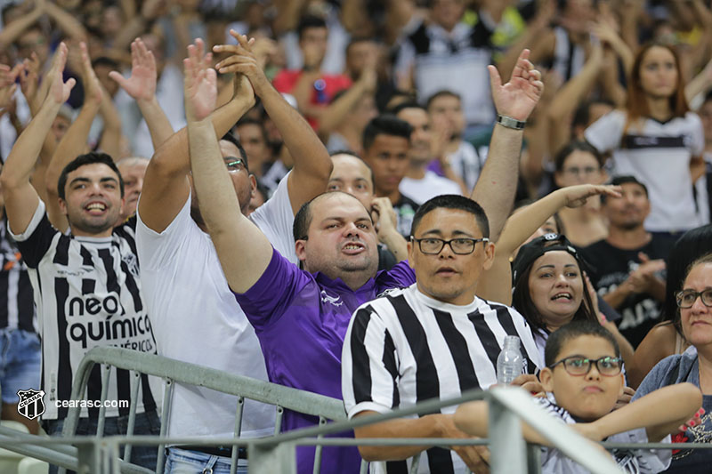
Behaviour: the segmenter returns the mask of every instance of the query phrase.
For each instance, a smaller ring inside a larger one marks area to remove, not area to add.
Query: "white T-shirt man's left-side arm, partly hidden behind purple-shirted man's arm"
[[[232,100],[210,116],[214,133],[222,137],[239,118],[255,105],[255,93],[247,77],[237,74]],[[174,133],[153,154],[143,177],[138,212],[149,229],[162,232],[190,196],[188,131]]]

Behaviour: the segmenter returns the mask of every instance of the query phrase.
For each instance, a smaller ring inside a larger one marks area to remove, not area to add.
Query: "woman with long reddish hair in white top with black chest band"
[[[645,228],[676,232],[700,225],[692,182],[704,173],[700,117],[689,111],[676,52],[647,44],[635,56],[627,106],[587,128],[586,140],[612,150],[615,174],[631,174],[650,191]]]

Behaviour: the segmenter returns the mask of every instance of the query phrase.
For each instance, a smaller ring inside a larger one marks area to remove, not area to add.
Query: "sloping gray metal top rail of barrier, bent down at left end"
[[[86,368],[93,364],[110,364],[117,368],[173,379],[176,382],[206,387],[230,395],[241,395],[259,402],[283,406],[301,414],[324,415],[328,420],[346,419],[344,402],[336,398],[241,375],[226,374],[211,367],[115,347],[98,347],[89,350],[77,367],[75,386],[77,382],[86,384],[85,377],[88,378],[88,374],[85,375]],[[72,398],[78,399],[74,395],[75,387],[72,387]]]

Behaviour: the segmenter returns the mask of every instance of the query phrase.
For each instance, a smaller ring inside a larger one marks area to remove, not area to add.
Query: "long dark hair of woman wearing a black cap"
[[[562,249],[556,246],[556,248],[552,249],[552,251],[554,250]],[[562,252],[566,251],[562,250]],[[587,320],[598,323],[598,317],[594,312],[594,303],[593,301],[591,301],[591,296],[588,294],[586,288],[586,281],[583,280],[584,272],[581,268],[581,262],[578,261],[576,255],[573,255],[572,253],[570,253],[570,255],[576,261],[576,264],[578,266],[578,273],[581,278],[581,283],[583,284],[583,299],[581,301],[581,304],[578,306],[576,313],[574,313],[573,319],[571,320]],[[526,319],[527,322],[531,325],[533,333],[546,331],[546,323],[544,321],[544,317],[537,309],[536,305],[534,304],[534,301],[531,300],[531,293],[529,291],[529,277],[531,274],[531,269],[532,267],[534,267],[534,262],[537,260],[538,259],[531,261],[529,266],[527,266],[527,268],[522,271],[521,276],[516,278],[517,283],[516,285],[514,285],[514,293],[512,293],[512,306],[514,307],[514,309],[519,311],[524,317],[524,319]]]

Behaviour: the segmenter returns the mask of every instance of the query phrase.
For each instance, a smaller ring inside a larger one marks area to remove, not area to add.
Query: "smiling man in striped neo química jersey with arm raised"
[[[69,221],[69,235],[53,228],[45,203],[30,184],[42,140],[50,131],[61,104],[69,97],[74,79],[62,81],[67,46],[60,44],[53,67],[44,78],[49,92],[41,108],[15,142],[0,175],[11,236],[28,265],[35,292],[42,338],[44,430],[60,435],[69,411],[71,385],[87,350],[117,346],[155,353],[156,342],[142,301],[135,245],[135,218],[114,228],[124,205],[124,182],[111,157],[89,153],[63,167],[58,192],[59,208]],[[129,374],[116,371],[109,378],[109,402],[130,397]],[[101,398],[101,374],[94,367],[87,401]],[[117,405],[117,404],[115,404]],[[82,410],[77,434],[96,431],[99,406]],[[104,434],[124,434],[128,406],[107,407]],[[148,383],[142,391],[134,424],[135,434],[160,432],[160,423]],[[157,451],[134,446],[132,461],[155,469]]]

